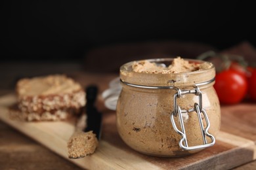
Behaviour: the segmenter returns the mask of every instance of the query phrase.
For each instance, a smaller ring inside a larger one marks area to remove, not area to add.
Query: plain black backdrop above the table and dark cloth
[[[255,10],[246,1],[5,1],[1,60],[77,60],[102,46],[148,41],[255,46]]]

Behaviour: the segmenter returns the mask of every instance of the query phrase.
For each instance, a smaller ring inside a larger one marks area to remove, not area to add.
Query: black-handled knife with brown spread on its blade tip
[[[76,129],[68,141],[68,158],[83,158],[95,152],[101,136],[102,114],[95,107],[98,88],[86,88],[87,104],[76,123]]]

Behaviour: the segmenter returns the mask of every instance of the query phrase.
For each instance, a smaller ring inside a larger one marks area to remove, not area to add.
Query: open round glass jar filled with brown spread
[[[207,63],[196,59],[189,62]],[[148,59],[171,63],[172,58]],[[120,68],[117,130],[134,150],[151,156],[186,156],[212,146],[221,125],[213,88],[215,67],[188,73],[137,73]]]

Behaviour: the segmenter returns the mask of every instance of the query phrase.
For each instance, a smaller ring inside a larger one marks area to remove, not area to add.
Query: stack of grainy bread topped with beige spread
[[[26,115],[54,115],[85,106],[85,91],[66,75],[22,78],[16,84],[16,93],[18,108]]]

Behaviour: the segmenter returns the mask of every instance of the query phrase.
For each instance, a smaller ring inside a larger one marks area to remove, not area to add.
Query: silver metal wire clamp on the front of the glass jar
[[[181,141],[179,141],[179,146],[181,146],[182,149],[184,150],[196,150],[196,149],[201,149],[201,148],[206,148],[209,146],[213,146],[215,144],[215,138],[213,135],[208,133],[208,129],[210,127],[210,122],[209,118],[205,112],[205,110],[202,107],[202,92],[198,88],[198,86],[194,86],[194,89],[192,90],[181,90],[179,88],[175,88],[177,90],[177,93],[175,93],[174,98],[173,98],[173,112],[171,113],[171,123],[173,124],[173,128],[177,133],[179,133],[182,136]],[[194,108],[184,110],[177,105],[177,98],[181,97],[182,95],[186,95],[192,93],[194,95],[198,95],[198,103],[194,103]],[[202,138],[203,138],[203,144],[202,145],[197,145],[197,146],[188,146],[188,141],[186,139],[186,131],[184,127],[184,121],[182,118],[182,113],[186,112],[196,112],[198,115],[198,122],[200,124],[200,129],[202,133]],[[175,124],[174,116],[179,116],[179,122],[181,125],[181,130],[179,130]],[[206,127],[203,126],[203,121],[202,121],[202,116],[205,119]],[[206,137],[211,138],[211,143],[207,143]]]

